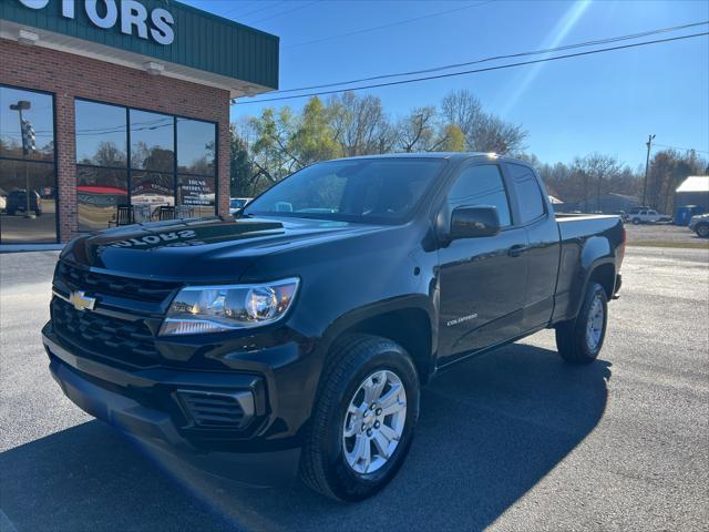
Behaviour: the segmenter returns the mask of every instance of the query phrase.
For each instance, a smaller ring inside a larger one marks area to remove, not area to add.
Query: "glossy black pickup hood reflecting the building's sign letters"
[[[136,224],[83,236],[61,259],[114,275],[181,282],[236,282],[260,257],[386,231],[387,226],[305,218],[207,218]]]

